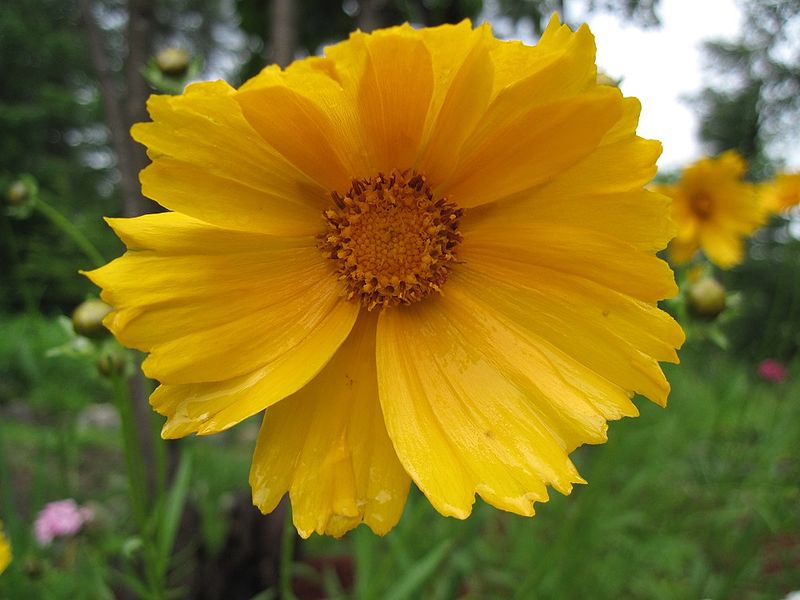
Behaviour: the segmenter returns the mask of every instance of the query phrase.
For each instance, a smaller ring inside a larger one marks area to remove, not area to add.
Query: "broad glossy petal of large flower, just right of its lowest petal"
[[[450,282],[448,282],[448,287]],[[546,484],[581,482],[533,403],[528,381],[487,353],[486,331],[449,296],[380,315],[378,389],[389,437],[406,471],[442,514],[466,518],[475,493],[522,515]]]

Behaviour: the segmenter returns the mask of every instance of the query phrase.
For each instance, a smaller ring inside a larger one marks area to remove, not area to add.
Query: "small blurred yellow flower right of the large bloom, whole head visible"
[[[729,150],[687,167],[675,185],[654,186],[671,196],[678,234],[670,257],[688,262],[701,247],[708,259],[728,269],[742,261],[742,239],[764,221],[764,209],[752,184],[742,181],[745,162]]]

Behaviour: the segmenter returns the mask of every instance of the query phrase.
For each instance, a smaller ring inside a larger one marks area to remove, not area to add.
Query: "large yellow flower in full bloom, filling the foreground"
[[[661,147],[594,53],[555,18],[536,47],[402,26],[151,98],[143,190],[174,212],[112,219],[128,252],[89,277],[164,437],[266,408],[253,499],[288,492],[303,536],[387,532],[412,480],[458,518],[583,482],[569,453],[663,405],[683,341]]]

